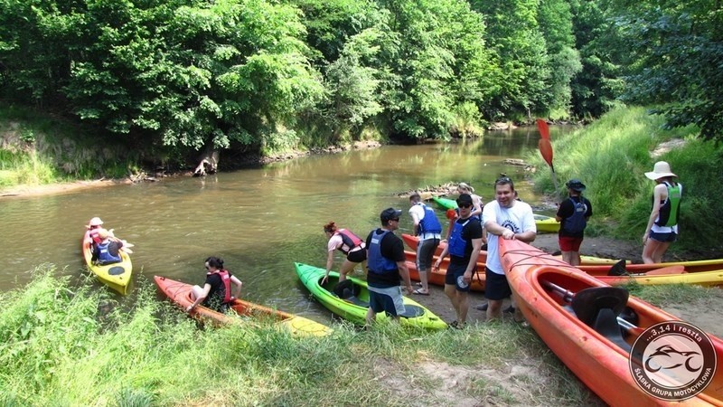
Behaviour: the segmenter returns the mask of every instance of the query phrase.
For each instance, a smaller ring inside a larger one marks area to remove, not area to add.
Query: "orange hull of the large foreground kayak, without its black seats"
[[[615,345],[606,336],[587,326],[565,308],[567,301],[556,295],[546,284],[553,283],[577,293],[591,287],[608,287],[605,283],[573,268],[562,268],[549,255],[521,241],[500,241],[502,265],[517,307],[531,327],[559,359],[593,392],[610,405],[659,405],[666,402],[644,393],[630,372],[628,351]],[[534,261],[531,261],[531,257]],[[652,327],[673,317],[640,299],[630,297],[627,307],[638,316],[636,325]],[[633,345],[636,335],[624,338]],[[723,357],[723,342],[710,336],[718,360]],[[716,372],[713,382],[703,393],[681,405],[721,405],[723,402],[723,374]]]

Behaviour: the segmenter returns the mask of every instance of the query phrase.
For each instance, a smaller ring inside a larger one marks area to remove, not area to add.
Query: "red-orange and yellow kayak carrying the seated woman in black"
[[[191,298],[191,284],[161,276],[154,276],[153,279],[155,280],[155,285],[161,289],[164,295],[183,308],[184,311],[193,303]],[[197,305],[192,309],[190,315],[205,321],[211,321],[211,323],[216,325],[252,323],[249,318],[241,317],[252,317],[258,321],[268,320],[277,324],[278,327],[291,332],[293,336],[324,336],[332,332],[332,328],[326,327],[324,324],[320,324],[311,319],[264,307],[238,298],[233,300],[230,308],[234,312],[222,314],[211,308]]]

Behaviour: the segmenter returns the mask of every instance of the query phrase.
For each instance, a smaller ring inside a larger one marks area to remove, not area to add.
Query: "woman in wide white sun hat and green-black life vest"
[[[643,263],[661,263],[662,255],[671,242],[678,239],[678,219],[681,216],[683,185],[671,173],[671,166],[658,161],[645,176],[655,181],[653,210],[643,233]]]

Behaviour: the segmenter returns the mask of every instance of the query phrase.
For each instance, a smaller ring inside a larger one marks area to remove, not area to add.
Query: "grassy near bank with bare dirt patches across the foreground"
[[[119,302],[92,279],[72,285],[44,265],[27,287],[2,294],[0,405],[450,405],[440,383],[457,383],[458,372],[470,380],[454,391],[478,402],[596,401],[518,325],[340,324],[333,336],[297,339],[264,325],[199,328],[155,286],[138,286],[133,302]],[[511,384],[502,373],[513,365],[528,370]],[[530,395],[512,392],[520,386]]]

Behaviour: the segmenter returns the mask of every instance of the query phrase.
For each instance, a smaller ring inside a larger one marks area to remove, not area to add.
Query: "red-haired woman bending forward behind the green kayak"
[[[362,270],[366,269],[367,251],[364,250],[366,243],[359,236],[348,229],[339,229],[334,222],[324,225],[324,234],[329,242],[326,244],[328,255],[326,257],[326,274],[324,274],[322,284],[329,278],[329,271],[332,270],[333,251],[338,250],[346,255],[346,260],[339,270],[339,282],[346,279],[346,275],[354,270],[357,264],[364,263]]]

